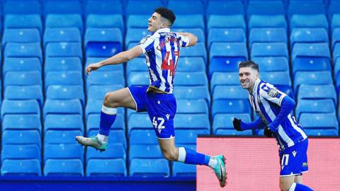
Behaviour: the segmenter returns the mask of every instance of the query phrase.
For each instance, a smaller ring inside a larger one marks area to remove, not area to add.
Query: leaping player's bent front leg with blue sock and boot
[[[101,108],[101,121],[98,134],[95,137],[89,138],[77,136],[77,141],[84,146],[92,146],[100,151],[105,151],[108,143],[108,135],[113,122],[115,122],[118,107],[136,110],[137,106],[129,88],[106,93]]]

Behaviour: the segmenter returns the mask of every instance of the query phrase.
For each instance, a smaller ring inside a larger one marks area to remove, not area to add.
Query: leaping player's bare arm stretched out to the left
[[[113,57],[104,59],[101,62],[89,64],[89,66],[86,67],[86,74],[89,75],[91,71],[95,71],[99,69],[101,66],[106,66],[106,65],[111,65],[111,64],[122,64],[122,63],[128,62],[130,59],[134,59],[135,57],[140,56],[140,54],[142,53],[143,53],[142,48],[139,46],[135,46],[130,50],[126,50],[124,52],[115,54]]]

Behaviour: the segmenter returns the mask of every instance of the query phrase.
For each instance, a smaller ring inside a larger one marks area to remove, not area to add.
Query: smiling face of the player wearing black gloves
[[[249,90],[252,88],[259,78],[259,72],[251,67],[243,67],[239,69],[239,82],[242,88]]]

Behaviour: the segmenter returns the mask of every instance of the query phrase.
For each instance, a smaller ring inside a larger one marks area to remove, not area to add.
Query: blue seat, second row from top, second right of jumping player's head
[[[212,15],[208,18],[208,30],[212,28],[242,28],[246,30],[246,22],[243,15]]]

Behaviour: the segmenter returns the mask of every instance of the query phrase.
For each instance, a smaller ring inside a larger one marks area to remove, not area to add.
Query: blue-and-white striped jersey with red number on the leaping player
[[[149,67],[150,86],[172,93],[179,52],[188,45],[188,37],[172,33],[169,28],[161,28],[140,41]]]

